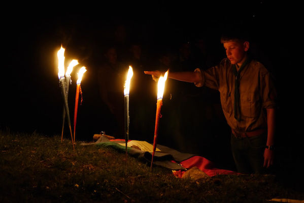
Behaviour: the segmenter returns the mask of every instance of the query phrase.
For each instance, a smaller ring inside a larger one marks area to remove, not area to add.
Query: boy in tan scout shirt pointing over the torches
[[[262,173],[274,161],[275,88],[264,66],[250,59],[249,41],[239,34],[223,35],[227,58],[218,66],[194,72],[169,72],[168,77],[208,86],[220,92],[231,127],[231,151],[241,173]],[[156,80],[160,71],[145,71]]]

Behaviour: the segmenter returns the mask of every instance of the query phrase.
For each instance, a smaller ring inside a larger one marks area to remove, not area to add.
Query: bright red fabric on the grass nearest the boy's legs
[[[173,161],[173,162],[175,162],[175,161]],[[200,156],[193,156],[189,159],[186,159],[186,160],[180,162],[180,164],[187,169],[190,169],[190,168],[196,166],[201,171],[205,172],[208,176],[211,176],[211,177],[216,176],[216,175],[237,175],[237,174],[239,174],[235,171],[216,168],[212,161],[206,159],[205,157],[200,157]],[[186,171],[177,170],[177,171],[174,171],[173,174],[177,178],[182,178],[185,172]]]

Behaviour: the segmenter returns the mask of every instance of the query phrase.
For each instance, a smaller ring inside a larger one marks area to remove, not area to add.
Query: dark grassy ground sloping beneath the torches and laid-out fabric
[[[0,202],[268,202],[304,199],[276,176],[219,175],[196,181],[112,148],[59,136],[0,131]]]

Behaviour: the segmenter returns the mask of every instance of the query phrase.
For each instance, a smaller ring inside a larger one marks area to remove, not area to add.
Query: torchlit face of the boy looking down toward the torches
[[[246,51],[249,48],[249,42],[244,42],[244,44],[242,44],[237,41],[227,41],[223,44],[227,58],[230,60],[231,64],[243,63]]]

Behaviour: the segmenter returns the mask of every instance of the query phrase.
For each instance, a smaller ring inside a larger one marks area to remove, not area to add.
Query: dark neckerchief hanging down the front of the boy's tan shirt
[[[240,67],[239,71],[237,71],[237,67],[235,67],[235,64],[232,65],[232,72],[235,76],[235,82],[234,82],[234,103],[233,103],[233,109],[234,109],[234,118],[238,121],[241,121],[241,108],[240,108],[240,74],[241,71],[245,68],[247,64],[251,59],[247,57],[245,62]]]

